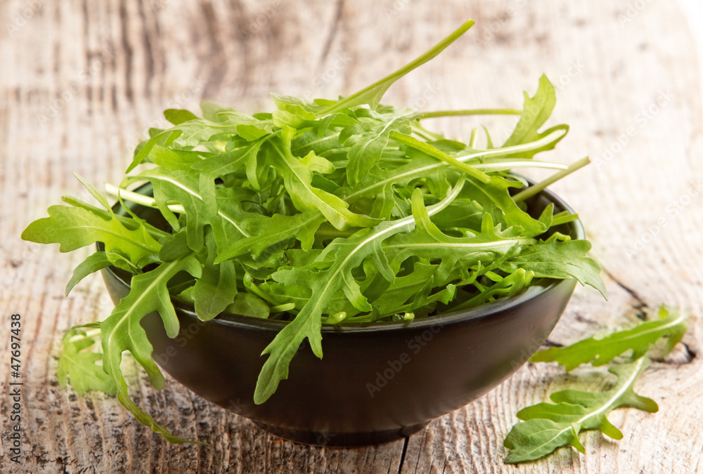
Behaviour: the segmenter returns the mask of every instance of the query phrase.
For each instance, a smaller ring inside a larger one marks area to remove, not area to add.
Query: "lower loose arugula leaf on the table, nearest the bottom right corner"
[[[517,417],[524,420],[512,427],[503,443],[510,449],[506,463],[533,461],[562,446],[573,446],[585,453],[579,441],[583,430],[599,429],[616,440],[622,433],[607,419],[612,410],[634,407],[645,412],[657,412],[657,403],[637,395],[634,384],[649,365],[647,357],[640,357],[631,364],[609,369],[618,378],[617,383],[605,392],[561,390],[550,398],[554,404],[539,403],[520,410]]]

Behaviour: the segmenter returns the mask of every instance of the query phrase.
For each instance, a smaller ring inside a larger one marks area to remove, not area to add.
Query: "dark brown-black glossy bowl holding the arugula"
[[[572,212],[549,191],[527,205],[538,214],[549,203],[556,212]],[[133,210],[147,220],[157,213],[138,205]],[[584,238],[579,221],[557,230]],[[129,277],[115,268],[102,274],[117,304],[129,293]],[[166,335],[157,313],[142,325],[162,369],[269,433],[314,445],[373,445],[415,433],[484,395],[527,362],[576,285],[573,279],[533,283],[515,296],[423,320],[323,325],[324,357],[304,345],[290,364],[288,380],[259,405],[253,395],[264,364],[261,353],[285,322],[229,314],[202,322],[192,308],[176,303],[181,325],[176,338]]]

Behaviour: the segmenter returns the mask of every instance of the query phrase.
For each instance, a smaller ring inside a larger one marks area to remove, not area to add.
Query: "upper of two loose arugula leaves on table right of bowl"
[[[602,338],[588,338],[562,348],[541,350],[530,362],[552,362],[562,364],[567,370],[591,362],[594,366],[607,364],[614,357],[632,350],[636,359],[644,355],[652,344],[664,336],[669,336],[666,353],[681,341],[686,332],[686,317],[676,308],[662,305],[655,320],[640,322],[636,327],[618,331]]]

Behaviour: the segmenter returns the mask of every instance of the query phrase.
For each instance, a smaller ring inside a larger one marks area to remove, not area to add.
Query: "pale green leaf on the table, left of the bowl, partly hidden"
[[[98,364],[102,354],[87,350],[95,343],[95,338],[88,336],[82,329],[74,329],[71,337],[64,336],[61,343],[61,355],[58,357],[58,383],[66,388],[70,380],[73,390],[83,396],[89,390],[104,393],[116,393],[115,383]]]

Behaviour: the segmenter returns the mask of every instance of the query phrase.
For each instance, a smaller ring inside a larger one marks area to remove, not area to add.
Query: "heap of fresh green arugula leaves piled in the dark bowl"
[[[173,126],[151,129],[120,186],[107,186],[129,217],[112,211],[79,178],[99,206],[65,197],[68,206],[51,206],[49,218],[27,227],[23,239],[59,243],[60,251],[105,245],[76,268],[67,291],[109,265],[133,275],[129,296],[112,314],[82,326],[100,330],[102,369],[139,421],[182,441],[131,402],[120,371],[122,353],[129,351],[152,385],[163,387],[139,321],[159,312],[167,334],[176,336],[172,298],[191,303],[203,321],[221,312],[288,321],[264,350],[254,393],[254,402],[263,403],[288,377],[305,339],[323,357],[322,324],[431,317],[516,294],[538,278],[575,278],[605,294],[600,266],[586,257],[591,244],[554,230],[577,216],[555,212],[553,204],[534,215],[525,204],[588,163],[534,159],[568,131],[566,125],[543,128],[555,105],[546,77],[517,112],[423,114],[380,105],[396,79],[472,25],[465,22],[347,98],[308,102],[274,95],[276,111],[253,115],[209,101],[201,103],[202,117],[166,110]],[[428,131],[423,121],[478,113],[520,118],[501,146],[485,128],[461,143]],[[527,183],[509,173],[522,168],[557,173],[518,192]],[[143,183],[150,183],[153,196],[134,192]],[[125,200],[158,209],[167,228],[136,216]],[[93,356],[67,357],[62,374],[86,389],[105,388],[104,377],[91,385],[95,362]],[[71,364],[83,372],[66,368]]]

